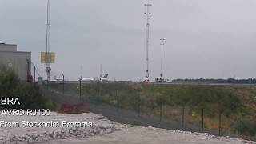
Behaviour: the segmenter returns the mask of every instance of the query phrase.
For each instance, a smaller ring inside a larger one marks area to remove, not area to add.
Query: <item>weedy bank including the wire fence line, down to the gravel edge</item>
[[[239,95],[241,90],[252,90],[253,93],[252,87],[240,90],[220,86],[78,82],[50,83],[47,90],[63,98],[78,98],[110,117],[132,119],[135,125],[137,122],[167,129],[256,139],[253,114],[239,99],[245,97]]]

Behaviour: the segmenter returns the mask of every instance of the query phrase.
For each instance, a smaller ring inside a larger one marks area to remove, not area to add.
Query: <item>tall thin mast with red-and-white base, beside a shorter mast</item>
[[[146,6],[146,78],[150,77],[149,73],[149,48],[150,48],[150,3],[145,4]]]

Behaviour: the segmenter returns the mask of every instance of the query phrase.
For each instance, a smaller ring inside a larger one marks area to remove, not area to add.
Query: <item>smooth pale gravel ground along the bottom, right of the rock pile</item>
[[[240,144],[253,143],[240,138],[215,137],[209,134],[191,133],[180,130],[163,130],[153,127],[130,127],[128,130],[88,138],[55,140],[47,144]]]

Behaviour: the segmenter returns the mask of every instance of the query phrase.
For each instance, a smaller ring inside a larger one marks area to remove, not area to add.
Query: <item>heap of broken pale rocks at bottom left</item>
[[[118,122],[111,122],[102,115],[85,114],[57,114],[50,116],[1,116],[0,121],[19,122],[19,126],[0,127],[0,144],[42,143],[54,139],[82,138],[94,135],[110,134],[114,130],[126,130],[127,126]],[[92,122],[93,126],[85,127],[22,127],[21,122]]]

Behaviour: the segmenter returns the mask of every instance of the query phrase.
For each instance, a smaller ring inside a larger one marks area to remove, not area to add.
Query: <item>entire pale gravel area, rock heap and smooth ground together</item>
[[[253,143],[239,138],[215,137],[209,134],[191,133],[180,130],[164,130],[154,127],[126,126],[111,122],[102,115],[87,114],[57,114],[50,116],[1,116],[5,122],[92,122],[86,127],[1,127],[1,144],[140,144],[140,143]],[[255,143],[255,142],[254,142]]]

